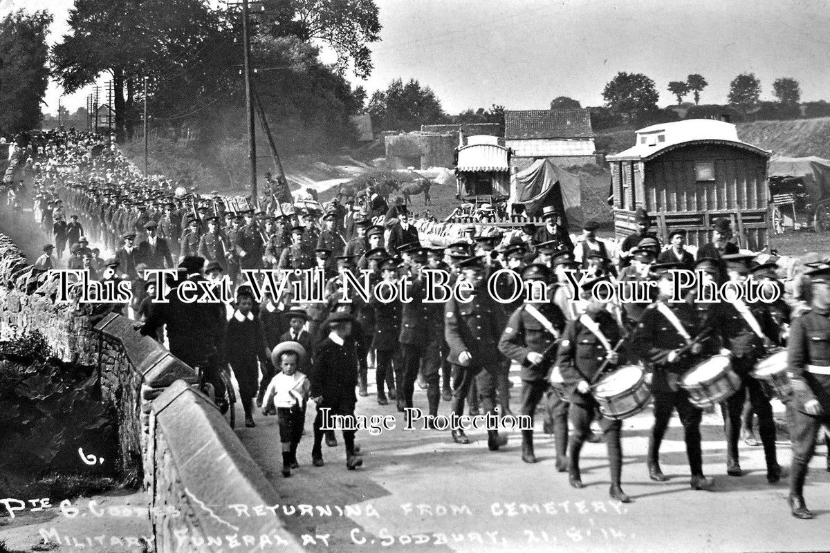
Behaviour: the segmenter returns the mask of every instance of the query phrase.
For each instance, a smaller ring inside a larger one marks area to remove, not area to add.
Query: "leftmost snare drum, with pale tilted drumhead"
[[[623,420],[645,409],[652,391],[648,389],[642,366],[626,365],[603,376],[593,390],[593,397],[605,417]]]

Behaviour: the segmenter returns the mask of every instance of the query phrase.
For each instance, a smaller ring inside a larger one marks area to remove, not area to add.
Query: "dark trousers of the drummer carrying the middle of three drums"
[[[648,437],[648,463],[657,464],[660,458],[660,444],[671,420],[671,414],[677,410],[683,425],[686,439],[686,457],[692,476],[703,476],[703,454],[701,452],[701,419],[703,412],[691,405],[686,390],[676,392],[657,392],[654,394],[654,426]]]

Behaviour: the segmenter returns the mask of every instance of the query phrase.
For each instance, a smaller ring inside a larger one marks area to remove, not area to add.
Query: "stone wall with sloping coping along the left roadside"
[[[229,507],[279,498],[193,386],[193,368],[110,305],[56,303],[54,275],[33,270],[4,235],[0,284],[0,340],[37,330],[56,357],[98,367],[102,398],[118,414],[122,469],[144,474],[155,551],[302,551],[273,512],[242,518]]]

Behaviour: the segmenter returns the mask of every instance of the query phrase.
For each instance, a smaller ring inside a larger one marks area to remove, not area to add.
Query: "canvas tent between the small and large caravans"
[[[542,214],[546,206],[554,206],[565,218],[570,229],[583,224],[581,179],[557,167],[548,158],[537,159],[530,167],[510,176],[510,202],[523,204],[531,217]]]

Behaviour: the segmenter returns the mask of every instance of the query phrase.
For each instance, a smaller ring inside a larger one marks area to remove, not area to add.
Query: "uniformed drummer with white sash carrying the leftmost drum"
[[[617,366],[622,355],[614,351],[621,340],[621,329],[611,313],[605,309],[605,303],[593,294],[593,286],[607,277],[588,280],[582,285],[580,294],[586,302],[583,315],[570,321],[564,329],[556,365],[562,374],[564,384],[569,391],[570,421],[574,434],[569,443],[568,473],[570,485],[584,488],[579,474],[579,452],[590,432],[591,421],[599,414],[599,404],[591,392],[591,382],[605,361],[607,366]],[[608,462],[611,468],[611,488],[609,493],[618,502],[629,503],[628,497],[620,486],[623,473],[623,446],[620,442],[622,422],[604,416],[600,419],[605,444],[608,447]]]

